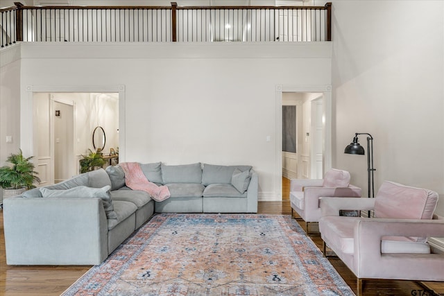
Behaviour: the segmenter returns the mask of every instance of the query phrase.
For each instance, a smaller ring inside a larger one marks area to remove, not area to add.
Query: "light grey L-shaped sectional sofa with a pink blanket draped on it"
[[[6,263],[90,265],[105,260],[157,213],[256,213],[251,166],[141,164],[171,198],[129,189],[120,166],[84,173],[3,201]]]

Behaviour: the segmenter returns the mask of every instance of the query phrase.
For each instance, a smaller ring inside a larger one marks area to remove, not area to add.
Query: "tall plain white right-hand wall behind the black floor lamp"
[[[444,214],[444,1],[333,0],[333,166],[367,191],[366,157],[345,155],[355,132],[374,137],[384,180],[441,193]],[[366,147],[366,137],[360,143]]]

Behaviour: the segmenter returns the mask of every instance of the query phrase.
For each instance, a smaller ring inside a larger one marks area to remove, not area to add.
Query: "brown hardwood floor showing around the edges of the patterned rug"
[[[282,202],[259,202],[259,214],[291,215],[289,180],[282,180]],[[300,221],[300,220],[299,220]],[[299,222],[305,229],[305,223]],[[311,239],[321,249],[322,241],[314,234]],[[26,256],[26,254],[24,254]],[[356,292],[356,277],[339,259],[329,259],[345,282]],[[11,266],[6,265],[3,236],[3,211],[0,210],[0,295],[51,296],[60,295],[91,266]],[[414,268],[414,266],[412,266]],[[429,283],[437,295],[444,295],[444,283]],[[432,295],[415,281],[370,280],[364,282],[364,295]]]

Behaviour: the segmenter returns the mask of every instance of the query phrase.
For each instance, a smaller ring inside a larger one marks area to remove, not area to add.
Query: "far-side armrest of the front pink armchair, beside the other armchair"
[[[373,210],[375,198],[335,198],[321,197],[322,216],[339,216],[340,210]]]

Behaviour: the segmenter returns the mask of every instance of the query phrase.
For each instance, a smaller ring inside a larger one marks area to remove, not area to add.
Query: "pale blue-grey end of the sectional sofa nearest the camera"
[[[108,256],[100,198],[8,198],[3,206],[8,264],[90,265]]]

